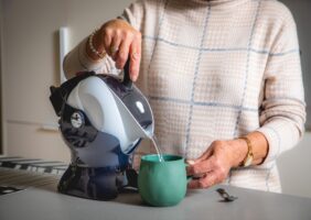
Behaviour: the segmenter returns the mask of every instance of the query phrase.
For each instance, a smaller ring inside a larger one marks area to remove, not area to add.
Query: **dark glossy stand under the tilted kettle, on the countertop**
[[[62,176],[60,193],[95,200],[111,200],[126,188],[137,191],[137,173],[133,169],[116,172],[116,167],[79,167],[69,165]]]

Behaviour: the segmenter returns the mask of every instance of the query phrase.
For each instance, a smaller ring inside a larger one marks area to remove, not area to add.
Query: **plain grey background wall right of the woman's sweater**
[[[280,0],[291,10],[298,29],[307,101],[307,128],[311,129],[311,0]],[[311,197],[311,133],[278,160],[285,193]]]

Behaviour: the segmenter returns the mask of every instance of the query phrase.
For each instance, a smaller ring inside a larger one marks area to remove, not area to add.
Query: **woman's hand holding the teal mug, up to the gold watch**
[[[226,179],[232,167],[238,166],[247,154],[244,140],[214,141],[195,161],[187,161],[187,176],[194,178],[189,188],[208,188]]]

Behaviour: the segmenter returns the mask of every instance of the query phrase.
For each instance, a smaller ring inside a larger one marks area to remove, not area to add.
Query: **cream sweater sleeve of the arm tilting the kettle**
[[[142,1],[137,1],[127,8],[122,15],[118,16],[129,22],[135,29],[140,31],[140,24],[142,20]],[[110,56],[94,62],[86,54],[86,45],[88,37],[84,38],[78,45],[76,45],[64,58],[63,68],[66,78],[74,77],[79,72],[95,72],[97,74],[114,74],[119,75],[121,70],[117,69],[115,62]]]

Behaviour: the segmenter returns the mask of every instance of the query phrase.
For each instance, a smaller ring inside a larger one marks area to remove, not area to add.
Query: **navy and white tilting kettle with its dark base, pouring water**
[[[137,188],[132,153],[141,139],[153,135],[150,105],[129,78],[79,73],[60,87],[51,87],[50,100],[72,162],[58,183],[58,191],[109,200],[126,187]]]

